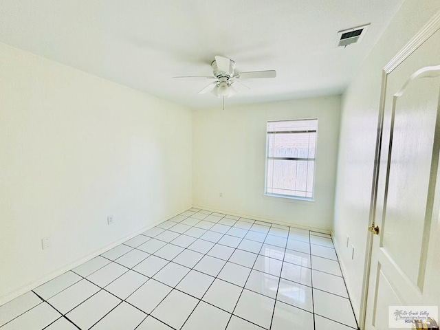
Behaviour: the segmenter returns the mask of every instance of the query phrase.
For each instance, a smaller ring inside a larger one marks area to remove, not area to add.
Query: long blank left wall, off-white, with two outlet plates
[[[189,109],[0,44],[0,301],[191,206],[191,126]]]

